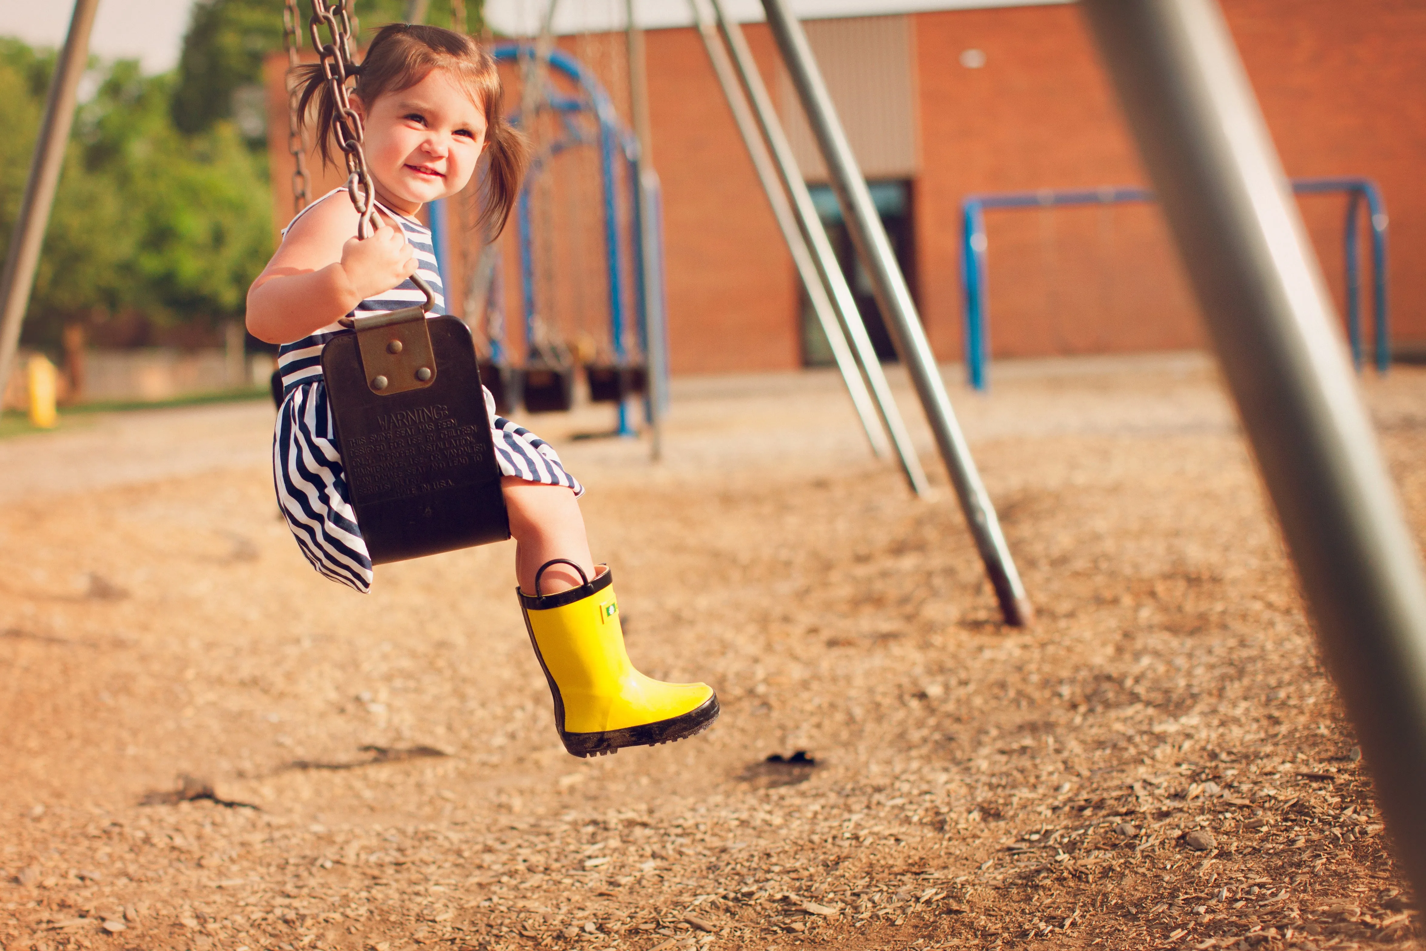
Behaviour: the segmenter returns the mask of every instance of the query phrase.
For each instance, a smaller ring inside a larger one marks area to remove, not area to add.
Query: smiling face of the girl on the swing
[[[366,127],[366,167],[376,197],[396,211],[453,195],[471,181],[485,147],[485,111],[445,70],[368,108],[352,97]]]

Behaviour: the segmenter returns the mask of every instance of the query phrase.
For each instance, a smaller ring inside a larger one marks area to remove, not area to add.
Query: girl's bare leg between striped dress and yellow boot
[[[515,577],[522,592],[535,593],[535,572],[553,557],[568,557],[585,569],[588,577],[595,576],[585,519],[570,489],[515,476],[503,476],[501,489],[515,536]],[[579,572],[569,565],[553,565],[540,576],[539,589],[542,595],[553,595],[579,585]]]

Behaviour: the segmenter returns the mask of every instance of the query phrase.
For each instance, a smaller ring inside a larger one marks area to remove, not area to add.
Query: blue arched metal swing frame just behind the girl
[[[496,61],[502,63],[528,63],[540,56],[535,44],[516,41],[498,43],[491,51]],[[630,314],[635,319],[637,346],[645,355],[647,355],[650,339],[667,339],[666,334],[655,334],[652,338],[649,335],[650,321],[657,321],[660,328],[663,327],[665,305],[662,295],[659,295],[660,299],[653,299],[655,295],[645,292],[645,288],[650,282],[645,279],[645,235],[639,227],[643,220],[642,212],[645,211],[642,202],[652,202],[652,211],[656,212],[655,221],[657,224],[652,231],[653,248],[650,248],[652,254],[647,259],[652,259],[659,269],[659,279],[652,284],[656,288],[662,288],[663,235],[662,215],[657,214],[660,211],[659,192],[656,187],[650,191],[640,184],[637,174],[639,140],[632,130],[620,124],[613,103],[599,80],[579,60],[558,47],[550,48],[543,58],[549,68],[569,78],[578,93],[565,94],[556,90],[553,84],[545,86],[542,101],[538,104],[536,111],[552,111],[558,117],[559,134],[553,141],[545,143],[540,153],[533,157],[516,207],[526,352],[535,352],[536,315],[540,312],[539,308],[542,305],[548,307],[548,302],[539,299],[536,291],[535,225],[530,211],[530,194],[539,177],[549,170],[552,158],[566,150],[590,145],[599,150],[603,251],[609,291],[609,344],[615,362],[623,365],[633,356],[629,352],[627,341]],[[593,118],[597,131],[592,133],[586,123],[579,121],[580,117]],[[511,121],[515,125],[532,123],[533,118],[520,115],[519,111],[511,115]],[[629,207],[625,215],[620,215],[619,175],[626,175],[626,187],[623,188],[622,198],[629,202]],[[630,265],[633,274],[632,281],[626,279],[626,262]],[[629,284],[633,287],[629,288]],[[491,339],[491,349],[492,358],[496,362],[503,362],[509,358],[501,339]],[[650,369],[653,366],[666,368],[667,361],[652,361]],[[660,389],[662,392],[667,392],[666,388]],[[636,435],[627,401],[619,402],[616,432],[617,435]]]

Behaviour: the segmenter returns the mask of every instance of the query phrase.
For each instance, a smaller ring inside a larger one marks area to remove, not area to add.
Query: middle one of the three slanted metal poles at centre
[[[699,30],[706,34],[704,43],[712,44],[709,46],[709,56],[714,56],[713,46],[716,46],[716,40],[709,36],[710,30],[702,19],[697,0],[690,0],[690,3],[693,4],[693,16],[699,19]],[[764,185],[764,188],[769,190],[769,195],[771,195],[774,190],[781,194],[781,190],[786,188],[787,195],[791,197],[801,240],[811,251],[813,261],[817,264],[817,274],[821,278],[821,284],[826,288],[827,295],[830,295],[831,301],[836,304],[837,319],[841,322],[841,329],[851,342],[851,352],[856,355],[857,364],[866,375],[867,385],[871,388],[871,398],[876,401],[877,412],[881,416],[881,425],[886,428],[887,436],[891,438],[891,443],[896,446],[897,459],[901,462],[901,472],[906,475],[913,492],[917,495],[925,495],[930,485],[925,480],[925,471],[921,468],[921,459],[915,455],[915,445],[911,442],[911,433],[906,431],[906,422],[901,419],[901,411],[897,409],[896,398],[891,395],[891,386],[887,384],[886,374],[881,369],[881,361],[877,359],[877,351],[871,345],[871,338],[867,336],[867,328],[861,322],[861,312],[857,309],[857,302],[851,297],[851,288],[847,285],[847,277],[841,272],[841,265],[837,262],[837,254],[831,250],[831,241],[827,240],[827,231],[821,227],[821,220],[817,217],[817,208],[811,202],[811,192],[807,191],[807,183],[803,181],[801,173],[797,168],[797,158],[793,155],[791,144],[789,144],[787,134],[783,131],[783,124],[777,118],[777,113],[773,108],[773,100],[767,94],[767,87],[763,86],[763,77],[757,71],[757,63],[753,60],[753,51],[747,48],[747,40],[743,37],[742,27],[739,27],[737,23],[727,16],[722,1],[712,0],[712,4],[713,13],[717,17],[719,29],[727,43],[727,48],[733,54],[733,66],[737,68],[743,93],[752,103],[753,115],[757,117],[757,125],[761,130],[763,140],[766,140],[767,150],[771,151],[773,164],[776,165],[777,175],[781,181],[781,188],[777,188],[776,185],[771,188]],[[714,63],[714,68],[717,68],[717,63]],[[734,90],[724,86],[723,91],[727,94],[730,106],[734,98],[742,103],[742,96],[736,96]],[[743,106],[744,113],[746,108],[747,107]],[[737,107],[734,107],[734,113],[736,111]],[[749,151],[753,151],[752,141],[756,135],[750,138],[749,134],[744,133],[743,138],[749,141]],[[759,141],[759,145],[763,145],[761,140]]]

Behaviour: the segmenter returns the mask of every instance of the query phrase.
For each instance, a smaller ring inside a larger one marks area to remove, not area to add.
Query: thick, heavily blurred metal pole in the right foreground
[[[1212,0],[1082,0],[1426,897],[1426,587],[1330,298]]]

